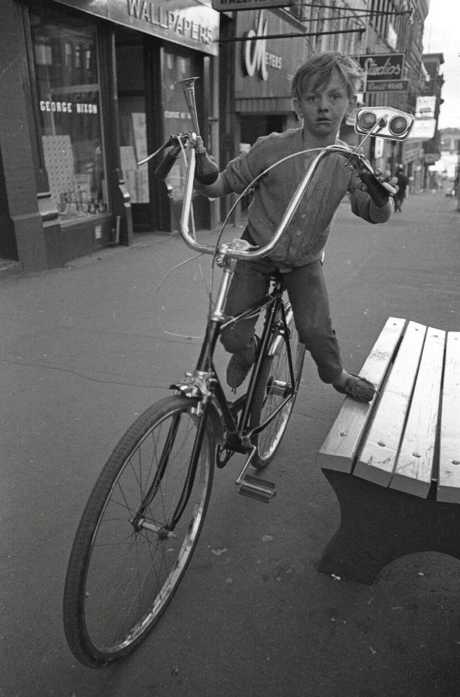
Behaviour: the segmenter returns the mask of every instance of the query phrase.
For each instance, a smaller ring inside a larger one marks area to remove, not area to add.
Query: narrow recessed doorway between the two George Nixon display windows
[[[117,31],[116,65],[120,164],[131,195],[134,232],[154,230],[148,167],[137,162],[148,155],[143,39],[134,31]]]

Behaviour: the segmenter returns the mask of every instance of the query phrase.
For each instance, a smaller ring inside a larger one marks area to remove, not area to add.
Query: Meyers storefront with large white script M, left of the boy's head
[[[300,36],[265,37],[301,31],[305,31],[301,22],[278,10],[222,13],[220,72],[228,74],[228,66],[234,69],[232,77],[220,82],[221,167],[258,137],[300,125],[292,108],[291,84],[310,49]],[[248,198],[243,201],[243,210]],[[222,220],[235,197],[230,199],[220,201]],[[233,215],[236,224],[240,213],[237,209]]]

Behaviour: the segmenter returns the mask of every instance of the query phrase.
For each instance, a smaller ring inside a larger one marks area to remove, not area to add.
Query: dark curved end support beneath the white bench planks
[[[374,583],[381,569],[406,554],[436,551],[460,559],[457,504],[386,489],[342,472],[323,469],[340,504],[340,527],[319,571]],[[432,487],[433,489],[433,487]]]

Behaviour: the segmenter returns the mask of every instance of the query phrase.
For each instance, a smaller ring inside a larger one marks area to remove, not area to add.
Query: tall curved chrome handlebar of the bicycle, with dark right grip
[[[308,152],[311,153],[315,150],[317,150],[317,148],[314,148],[310,151],[303,151],[303,153],[295,154],[301,155]],[[365,183],[370,197],[372,198],[376,206],[383,206],[388,201],[388,194],[396,193],[397,190],[394,189],[391,185],[378,181],[378,179],[374,175],[374,171],[370,163],[365,158],[365,156],[361,153],[356,152],[353,148],[349,148],[348,146],[343,145],[330,145],[326,148],[321,148],[318,151],[315,158],[312,160],[312,162],[310,162],[310,165],[308,166],[306,173],[303,175],[303,178],[301,179],[301,182],[299,183],[299,186],[297,187],[294,196],[292,197],[289,206],[287,206],[283,218],[281,219],[280,224],[276,228],[276,231],[273,234],[273,237],[271,238],[269,243],[267,245],[264,245],[263,247],[253,247],[252,250],[248,250],[241,249],[241,246],[243,246],[241,245],[241,240],[234,240],[232,245],[230,246],[226,244],[221,245],[219,247],[219,253],[225,254],[225,256],[227,256],[230,259],[246,259],[246,261],[255,261],[257,259],[262,259],[264,256],[267,256],[267,254],[270,254],[270,252],[273,251],[276,245],[278,245],[281,236],[290,224],[292,218],[294,217],[294,214],[296,213],[297,208],[299,208],[299,204],[308,188],[308,185],[310,184],[310,181],[312,180],[312,176],[315,174],[315,171],[317,170],[319,162],[321,162],[325,157],[331,155],[332,153],[339,153],[341,155],[344,155],[348,161],[356,160],[358,168],[363,170],[360,174],[360,178],[363,181],[363,183]],[[208,245],[203,245],[197,242],[197,240],[191,237],[189,233],[189,217],[191,210],[191,198],[193,193],[193,178],[195,175],[195,169],[196,155],[195,150],[191,148],[189,167],[187,167],[187,175],[185,178],[184,199],[182,202],[182,213],[180,218],[180,233],[186,245],[188,247],[191,247],[192,250],[195,250],[196,252],[201,252],[203,254],[216,254],[215,247],[209,247]],[[248,245],[244,246],[247,247]]]

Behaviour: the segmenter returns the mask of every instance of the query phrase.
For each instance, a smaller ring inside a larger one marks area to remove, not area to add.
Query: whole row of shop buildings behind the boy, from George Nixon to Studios
[[[55,268],[132,243],[136,233],[177,230],[184,164],[159,181],[152,163],[137,162],[191,128],[175,84],[185,77],[200,77],[202,135],[221,167],[257,137],[299,124],[292,77],[315,52],[404,56],[402,89],[363,89],[359,98],[415,113],[428,74],[421,60],[428,6],[299,0],[218,12],[212,0],[174,8],[169,0],[2,0],[0,264]],[[349,114],[340,130],[350,144],[358,141],[353,123]],[[402,162],[416,191],[425,141],[370,139],[366,154],[393,171]],[[197,227],[214,227],[231,202],[197,196]]]

